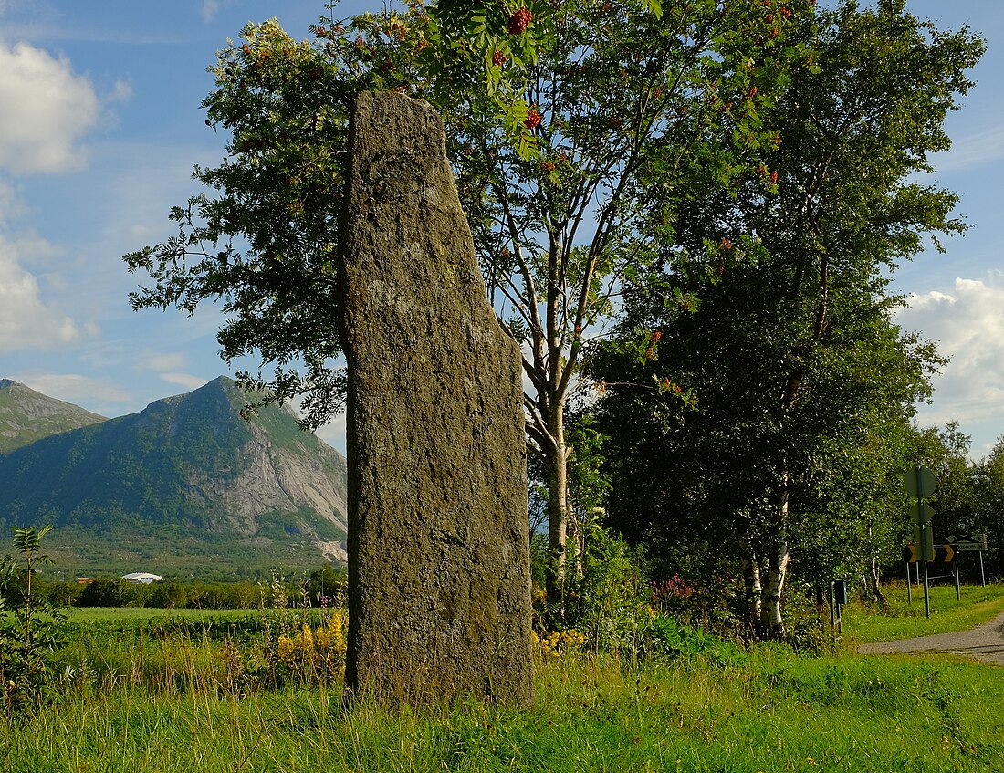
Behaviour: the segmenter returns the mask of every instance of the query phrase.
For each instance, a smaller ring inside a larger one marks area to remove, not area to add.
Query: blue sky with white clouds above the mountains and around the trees
[[[953,149],[934,159],[970,228],[893,284],[909,298],[896,321],[951,356],[918,423],[957,421],[978,459],[1004,435],[1004,3],[908,8],[988,42],[977,86],[947,123]],[[170,237],[170,208],[199,190],[193,167],[223,158],[226,136],[200,107],[216,51],[272,16],[307,37],[323,10],[322,0],[0,0],[0,378],[117,417],[256,366],[219,358],[212,307],[132,311],[143,277],[121,256]],[[318,435],[344,450],[342,420]]]

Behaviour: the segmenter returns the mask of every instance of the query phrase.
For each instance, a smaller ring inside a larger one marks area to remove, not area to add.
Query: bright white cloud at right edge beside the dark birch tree
[[[990,277],[955,280],[952,292],[911,294],[896,322],[920,331],[951,357],[935,376],[934,403],[920,408],[924,425],[958,421],[982,456],[1004,433],[1004,286]]]

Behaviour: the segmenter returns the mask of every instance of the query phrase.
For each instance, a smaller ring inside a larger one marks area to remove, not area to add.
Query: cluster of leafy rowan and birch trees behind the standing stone
[[[877,594],[951,354],[895,323],[890,281],[965,230],[931,159],[985,41],[905,0],[548,5],[326,19],[305,43],[246,26],[204,102],[229,158],[197,169],[213,193],[172,210],[178,237],[126,256],[151,280],[134,307],[239,299],[224,357],[280,365],[243,385],[325,422],[351,95],[428,99],[523,352],[548,628],[612,576],[718,592],[752,637],[833,576]]]

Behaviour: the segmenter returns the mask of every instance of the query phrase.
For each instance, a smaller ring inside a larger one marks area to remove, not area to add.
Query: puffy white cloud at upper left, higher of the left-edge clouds
[[[68,60],[0,41],[0,169],[23,175],[85,168],[77,143],[99,116],[90,81]]]

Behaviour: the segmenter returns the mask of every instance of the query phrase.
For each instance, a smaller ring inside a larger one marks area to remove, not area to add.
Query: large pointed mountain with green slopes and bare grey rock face
[[[245,422],[220,377],[0,455],[0,522],[53,524],[59,568],[228,575],[343,560],[345,462],[292,412]]]

